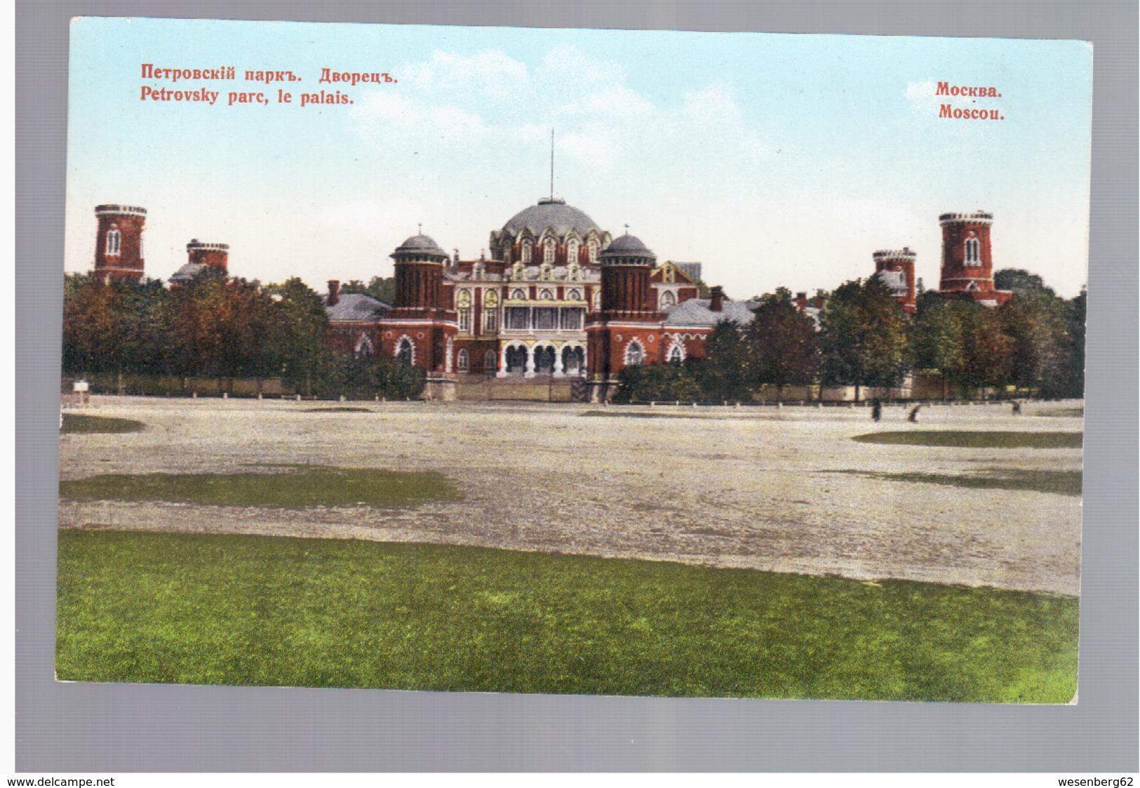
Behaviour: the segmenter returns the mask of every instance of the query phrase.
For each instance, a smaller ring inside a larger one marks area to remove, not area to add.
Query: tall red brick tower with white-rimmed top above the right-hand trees
[[[986,306],[997,306],[1009,300],[1011,293],[994,290],[993,257],[990,250],[990,226],[994,214],[943,213],[942,225],[942,281],[938,290],[944,294],[969,293]]]

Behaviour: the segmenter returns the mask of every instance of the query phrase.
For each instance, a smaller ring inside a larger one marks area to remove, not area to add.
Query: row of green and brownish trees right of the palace
[[[683,364],[624,371],[619,400],[747,400],[762,387],[898,385],[915,369],[942,373],[943,395],[1017,387],[1042,397],[1084,391],[1085,294],[1061,299],[1039,276],[999,271],[1015,296],[993,309],[967,295],[922,293],[906,315],[876,277],[828,298],[821,322],[780,289],[757,301],[746,326],[723,322],[708,355]]]

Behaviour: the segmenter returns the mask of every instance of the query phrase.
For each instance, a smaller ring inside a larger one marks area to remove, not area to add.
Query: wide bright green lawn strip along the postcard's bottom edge
[[[1072,596],[484,547],[59,531],[60,680],[1067,702]]]

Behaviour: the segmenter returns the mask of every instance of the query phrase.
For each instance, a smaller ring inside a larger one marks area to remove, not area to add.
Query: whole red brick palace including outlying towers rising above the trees
[[[137,282],[144,275],[146,209],[99,205],[95,274]],[[943,293],[963,293],[996,307],[1011,293],[994,289],[990,227],[993,214],[943,213]],[[467,384],[494,379],[510,388],[557,384],[575,399],[606,401],[621,369],[683,361],[706,354],[723,320],[744,325],[751,301],[732,301],[719,287],[700,295],[701,263],[658,261],[641,239],[613,236],[581,210],[555,197],[539,200],[491,230],[490,255],[461,260],[422,231],[391,253],[393,303],[342,293],[328,282],[325,341],[356,357],[402,358],[427,373],[427,396],[455,399]],[[196,238],[171,285],[207,268],[228,271],[229,247]],[[917,255],[909,247],[873,253],[874,276],[907,312],[915,311]],[[822,296],[800,311],[819,320]]]

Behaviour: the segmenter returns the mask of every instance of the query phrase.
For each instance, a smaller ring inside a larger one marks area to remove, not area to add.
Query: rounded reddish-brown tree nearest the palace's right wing
[[[800,312],[791,292],[780,287],[759,299],[755,317],[744,328],[754,385],[808,385],[820,369],[815,320]]]

